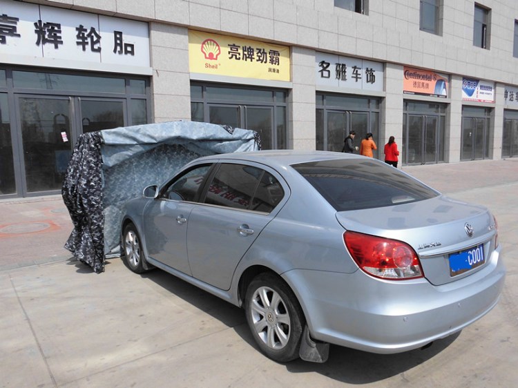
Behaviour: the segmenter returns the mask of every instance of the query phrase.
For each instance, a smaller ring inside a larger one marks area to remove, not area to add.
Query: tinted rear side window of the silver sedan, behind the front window
[[[278,180],[262,168],[222,164],[209,185],[204,202],[269,213],[283,196]]]

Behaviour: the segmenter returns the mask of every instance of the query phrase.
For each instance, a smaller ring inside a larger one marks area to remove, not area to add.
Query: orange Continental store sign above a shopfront
[[[403,67],[403,93],[448,97],[448,76],[429,70]]]

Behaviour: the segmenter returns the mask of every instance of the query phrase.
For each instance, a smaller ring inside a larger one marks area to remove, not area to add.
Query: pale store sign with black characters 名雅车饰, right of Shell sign
[[[383,91],[383,64],[340,55],[316,53],[316,84]]]

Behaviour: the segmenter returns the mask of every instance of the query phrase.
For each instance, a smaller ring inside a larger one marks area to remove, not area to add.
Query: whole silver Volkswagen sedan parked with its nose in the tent
[[[505,278],[487,208],[322,151],[196,159],[126,204],[122,257],[242,307],[279,362],[423,347],[488,313]]]

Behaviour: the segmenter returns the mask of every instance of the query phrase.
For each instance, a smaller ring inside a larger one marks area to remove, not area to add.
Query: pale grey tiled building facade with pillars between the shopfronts
[[[450,76],[445,162],[457,162],[461,148],[463,77],[495,82],[490,158],[501,157],[504,85],[518,85],[512,56],[518,3],[483,0],[490,9],[488,50],[473,45],[474,2],[440,1],[439,35],[419,29],[419,1],[365,1],[367,14],[336,8],[334,0],[56,0],[28,1],[148,22],[151,45],[151,117],[155,122],[191,119],[189,30],[266,41],[291,49],[289,148],[315,148],[315,57],[330,52],[385,64],[379,141],[401,139],[403,66]],[[256,84],[236,79],[239,84]],[[359,92],[358,94],[363,94]],[[430,97],[415,97],[431,101]]]

